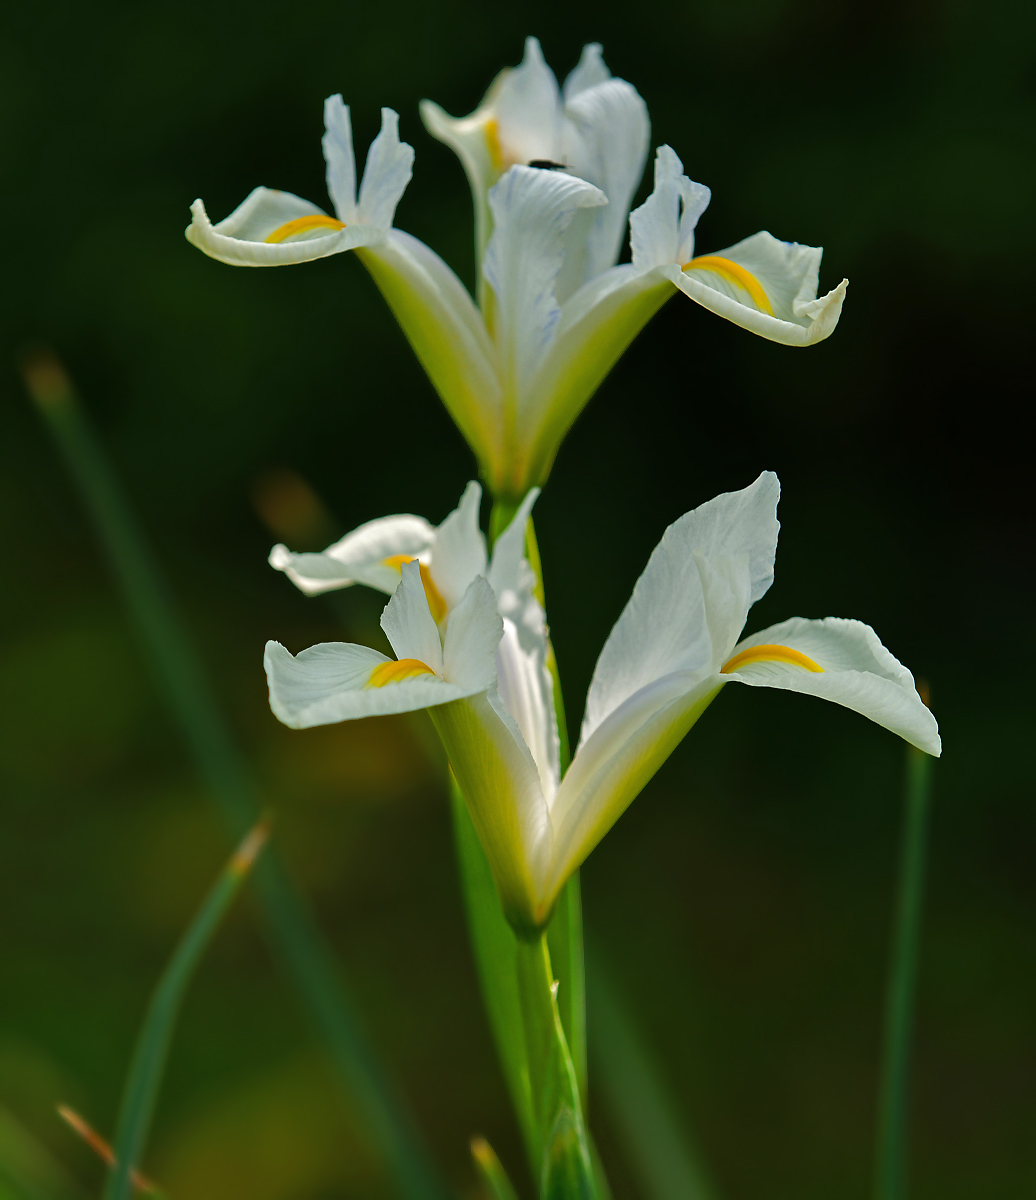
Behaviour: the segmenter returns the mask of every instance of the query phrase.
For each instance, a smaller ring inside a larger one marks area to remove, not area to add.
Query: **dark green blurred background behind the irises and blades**
[[[1019,2],[10,6],[0,43],[0,1104],[89,1188],[53,1116],[110,1130],[148,989],[226,853],[14,360],[53,346],[164,563],[277,836],[435,1157],[520,1150],[480,1015],[442,780],[403,720],[292,733],[262,647],[342,636],[265,565],[289,467],[333,534],[439,521],[471,456],[359,263],[235,270],[187,245],[257,184],[324,200],[321,106],[417,149],[397,224],[471,280],[461,170],[417,116],[474,107],[537,32],[636,84],[713,190],[699,247],[760,228],[851,280],[807,352],[673,299],[537,509],[569,721],[665,524],[784,485],[750,628],[852,616],[930,680],[938,766],[914,1195],[1036,1189],[1031,379],[1034,10]],[[643,191],[643,190],[642,190]],[[305,547],[295,547],[305,548]],[[381,601],[349,593],[348,635]],[[729,1200],[869,1194],[904,751],[852,714],[727,689],[587,864],[611,965]],[[636,1194],[610,1115],[617,1196]],[[174,1200],[383,1192],[239,906],[192,990],[148,1166]]]

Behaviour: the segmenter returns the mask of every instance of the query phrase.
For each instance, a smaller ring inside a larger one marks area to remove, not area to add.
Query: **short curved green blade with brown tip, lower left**
[[[128,1200],[133,1190],[134,1171],[151,1127],[155,1102],[162,1084],[169,1043],[184,992],[216,928],[230,907],[230,901],[262,851],[268,833],[265,823],[261,822],[234,851],[180,940],[151,996],[122,1090],[113,1146],[115,1162],[108,1171],[103,1200]]]

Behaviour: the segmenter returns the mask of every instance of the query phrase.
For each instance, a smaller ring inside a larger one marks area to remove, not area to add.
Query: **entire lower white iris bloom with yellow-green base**
[[[372,650],[330,643],[293,658],[271,642],[274,712],[306,727],[429,708],[504,911],[522,932],[545,925],[571,872],[729,682],[831,700],[940,754],[935,719],[910,672],[869,625],[796,617],[738,641],[750,606],[773,582],[779,491],[766,472],[666,529],[598,659],[563,779],[545,618],[523,558],[535,492],[491,560],[477,484],[438,529],[396,516],[323,554],[275,547],[271,563],[304,590],[360,581],[391,590],[382,624],[393,649],[427,673],[371,686],[371,671],[390,661],[377,655],[376,664]],[[431,610],[442,602],[436,622]]]

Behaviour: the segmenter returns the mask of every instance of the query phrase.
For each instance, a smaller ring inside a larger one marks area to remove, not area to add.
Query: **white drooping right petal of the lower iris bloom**
[[[914,677],[863,622],[792,617],[744,638],[733,654],[753,646],[791,647],[813,659],[824,673],[769,661],[738,667],[725,678],[831,700],[862,713],[927,754],[941,754],[939,726],[917,695]]]

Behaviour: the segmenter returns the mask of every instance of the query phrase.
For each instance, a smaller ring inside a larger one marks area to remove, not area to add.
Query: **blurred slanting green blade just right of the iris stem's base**
[[[595,1086],[647,1200],[715,1200],[651,1055],[595,954],[587,955]]]

